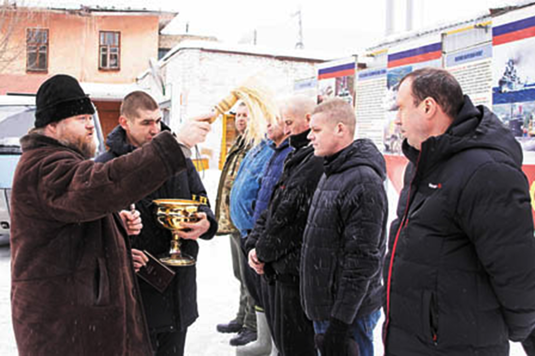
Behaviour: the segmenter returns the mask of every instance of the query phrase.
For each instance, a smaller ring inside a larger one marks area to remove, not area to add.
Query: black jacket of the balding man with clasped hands
[[[266,278],[299,277],[303,232],[312,196],[323,174],[323,159],[314,155],[307,135],[310,130],[290,138],[295,151],[286,157],[282,175],[274,188],[268,209],[256,220],[248,235],[246,249],[256,248],[264,262]]]

